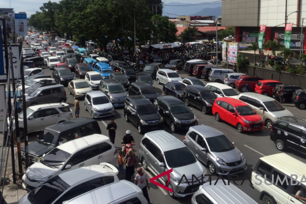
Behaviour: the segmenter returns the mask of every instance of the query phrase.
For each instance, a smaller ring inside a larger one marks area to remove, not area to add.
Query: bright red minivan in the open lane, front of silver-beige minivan
[[[216,121],[226,121],[235,126],[238,132],[262,130],[264,122],[247,103],[235,98],[217,98],[212,106]]]

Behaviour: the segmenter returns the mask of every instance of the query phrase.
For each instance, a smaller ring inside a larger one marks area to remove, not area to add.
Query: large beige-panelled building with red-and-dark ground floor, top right
[[[284,43],[286,16],[287,23],[293,23],[291,50],[300,50],[301,46],[305,50],[306,38],[301,37],[301,26],[302,19],[306,18],[306,1],[222,0],[222,26],[236,28],[236,42],[258,42],[259,26],[266,25],[264,41]]]

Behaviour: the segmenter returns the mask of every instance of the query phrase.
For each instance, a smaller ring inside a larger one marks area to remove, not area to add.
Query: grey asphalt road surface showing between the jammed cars
[[[47,75],[52,76],[52,71],[44,68],[44,73]],[[188,76],[183,70],[179,71],[179,74],[182,78],[190,77]],[[207,82],[206,82],[207,83]],[[159,94],[162,94],[162,85],[159,85],[155,82],[155,89],[159,92]],[[70,106],[70,109],[74,111],[74,98],[72,95],[68,95],[68,88],[65,87],[66,93],[67,93],[67,103]],[[80,117],[91,117],[91,114],[84,110],[84,100],[80,100]],[[306,112],[305,110],[297,109],[293,104],[285,104],[285,107],[289,109],[296,117],[298,118],[304,118],[304,115]],[[216,128],[220,131],[222,131],[232,142],[234,141],[236,144],[236,147],[244,154],[244,157],[247,159],[247,170],[244,173],[240,173],[240,180],[243,180],[245,176],[251,176],[251,172],[253,168],[255,167],[258,159],[262,156],[271,155],[271,154],[277,154],[280,153],[275,148],[274,143],[270,140],[269,133],[270,131],[268,129],[264,129],[260,132],[249,132],[241,134],[237,132],[236,128],[225,123],[225,122],[217,122],[215,121],[215,117],[211,115],[204,115],[200,110],[193,108],[192,112],[196,115],[197,119],[199,120],[199,124],[209,125],[213,128]],[[118,150],[121,149],[121,140],[123,135],[125,135],[126,130],[130,130],[132,133],[132,136],[135,139],[136,142],[136,156],[138,156],[137,149],[138,144],[140,143],[140,139],[143,137],[143,135],[140,135],[137,132],[137,129],[130,123],[126,122],[124,119],[124,113],[123,108],[117,108],[115,109],[115,123],[118,126],[118,129],[116,131],[116,138],[115,138],[115,146],[118,147]],[[108,131],[106,130],[106,125],[110,122],[110,117],[97,119],[99,121],[100,128],[102,130],[102,134],[108,135]],[[170,134],[173,134],[168,126],[165,126],[164,130],[166,132],[169,132]],[[173,134],[175,137],[177,137],[179,140],[183,140],[185,136],[184,131],[177,132]],[[33,141],[36,139],[35,135],[32,135],[29,137],[29,140]],[[305,162],[305,157],[302,155],[287,152],[287,154],[293,156],[294,158],[297,158],[300,161]],[[190,169],[192,171],[192,169]],[[152,177],[152,175],[149,173],[149,177]],[[237,182],[238,184],[241,183],[241,181]],[[170,198],[169,195],[167,195],[167,192],[164,189],[161,189],[160,187],[157,187],[154,184],[150,184],[150,190],[149,190],[149,196],[152,203],[190,203],[191,196],[186,196],[185,198]],[[262,201],[259,200],[259,192],[252,189],[249,186],[249,182],[246,180],[242,185],[237,186],[241,190],[243,190],[245,193],[247,193],[250,197],[252,197],[254,200],[256,200],[259,203],[262,203]]]

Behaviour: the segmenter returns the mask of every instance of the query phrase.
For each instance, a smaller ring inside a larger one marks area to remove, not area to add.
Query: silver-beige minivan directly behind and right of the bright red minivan
[[[263,117],[268,129],[278,120],[278,117],[294,115],[275,99],[252,92],[241,93],[238,99],[248,103],[257,113]]]

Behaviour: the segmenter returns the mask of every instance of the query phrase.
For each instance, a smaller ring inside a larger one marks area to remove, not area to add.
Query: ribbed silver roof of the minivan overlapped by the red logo
[[[148,132],[144,134],[144,137],[148,137],[155,143],[157,143],[160,148],[162,148],[163,152],[186,147],[186,145],[182,143],[179,139],[164,130]]]

